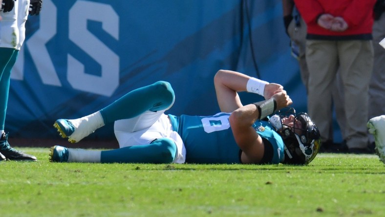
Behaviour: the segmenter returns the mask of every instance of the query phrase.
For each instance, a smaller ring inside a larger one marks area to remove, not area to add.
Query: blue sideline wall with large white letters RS
[[[95,112],[158,80],[175,90],[169,113],[214,114],[218,69],[282,84],[293,106],[306,111],[281,0],[44,0],[40,16],[26,23],[6,130],[58,138],[56,119]],[[102,137],[114,137],[112,124],[91,135]]]

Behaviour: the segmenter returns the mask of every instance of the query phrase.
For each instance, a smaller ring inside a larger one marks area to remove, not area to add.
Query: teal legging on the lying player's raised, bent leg
[[[138,116],[148,110],[167,109],[172,105],[174,99],[174,90],[170,83],[158,81],[128,92],[106,108],[101,109],[100,113],[107,125],[117,120]]]

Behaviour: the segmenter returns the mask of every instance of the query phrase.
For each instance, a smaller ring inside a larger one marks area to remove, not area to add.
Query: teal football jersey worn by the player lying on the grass
[[[186,163],[241,163],[241,150],[235,143],[229,123],[230,113],[213,116],[170,115],[174,131],[182,137],[186,147]],[[266,121],[255,123],[257,133],[273,146],[270,163],[278,164],[283,159],[283,141]]]

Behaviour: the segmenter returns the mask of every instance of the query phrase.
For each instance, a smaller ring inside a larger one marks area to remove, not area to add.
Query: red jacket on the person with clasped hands
[[[294,0],[307,24],[307,39],[370,40],[373,7],[376,0]],[[321,14],[342,17],[348,24],[343,32],[334,32],[317,24]]]

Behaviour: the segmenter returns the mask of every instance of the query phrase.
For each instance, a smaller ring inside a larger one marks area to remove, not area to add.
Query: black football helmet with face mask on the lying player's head
[[[287,164],[310,163],[317,155],[320,145],[321,136],[317,126],[311,121],[310,117],[300,112],[296,114],[294,108],[286,107],[284,110],[278,111],[282,128],[278,133],[282,136],[285,144],[285,160]],[[287,123],[290,116],[293,122]]]

